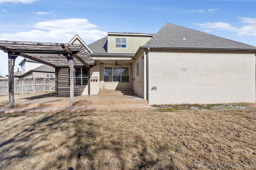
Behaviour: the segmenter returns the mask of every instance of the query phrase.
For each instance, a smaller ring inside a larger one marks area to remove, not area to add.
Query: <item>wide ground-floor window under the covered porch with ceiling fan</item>
[[[128,66],[105,66],[104,68],[105,82],[129,82]]]

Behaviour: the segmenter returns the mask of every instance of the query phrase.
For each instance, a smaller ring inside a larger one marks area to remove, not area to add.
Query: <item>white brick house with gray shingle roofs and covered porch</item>
[[[108,33],[89,45],[76,35],[70,43],[84,45],[96,62],[78,70],[97,80],[84,87],[86,95],[133,89],[150,105],[256,101],[251,45],[171,23],[156,34]]]

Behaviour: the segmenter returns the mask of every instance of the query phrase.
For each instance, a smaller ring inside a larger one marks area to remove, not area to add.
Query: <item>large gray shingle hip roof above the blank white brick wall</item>
[[[185,37],[186,40],[183,40]],[[256,49],[256,47],[166,23],[144,46],[206,48],[206,49]]]

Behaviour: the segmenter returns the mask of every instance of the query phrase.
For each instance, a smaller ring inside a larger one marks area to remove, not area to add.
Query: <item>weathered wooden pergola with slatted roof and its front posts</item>
[[[14,63],[18,56],[56,68],[96,65],[80,44],[0,41],[0,49],[8,53],[9,107],[14,107]],[[90,82],[90,81],[89,81]],[[74,106],[74,72],[70,71],[70,106]]]

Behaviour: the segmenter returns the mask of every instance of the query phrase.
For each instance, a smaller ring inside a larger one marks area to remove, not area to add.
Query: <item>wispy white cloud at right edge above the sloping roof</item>
[[[235,27],[232,26],[231,23],[224,22],[205,22],[205,23],[193,23],[194,25],[198,25],[201,28],[208,29],[217,29],[217,30],[226,30],[235,32],[236,35],[249,35],[256,36],[256,18],[244,18],[238,17],[242,26]]]

